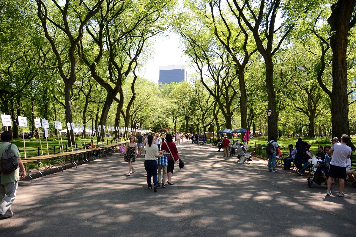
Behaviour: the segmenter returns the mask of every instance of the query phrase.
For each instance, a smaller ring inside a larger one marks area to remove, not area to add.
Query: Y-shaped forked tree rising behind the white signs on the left
[[[42,22],[45,37],[57,57],[59,74],[64,82],[64,111],[68,123],[73,122],[70,92],[76,81],[75,69],[82,59],[79,43],[83,38],[83,27],[100,10],[103,1],[36,0],[38,18]],[[70,133],[73,133],[73,130]],[[71,137],[74,143],[74,133]]]

